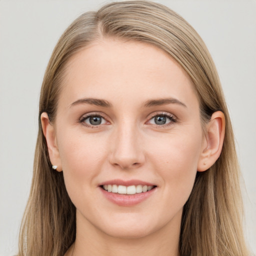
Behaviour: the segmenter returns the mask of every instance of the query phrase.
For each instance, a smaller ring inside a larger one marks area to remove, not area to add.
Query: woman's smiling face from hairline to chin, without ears
[[[192,83],[170,56],[114,39],[82,49],[54,125],[77,223],[116,237],[179,227],[204,135]]]

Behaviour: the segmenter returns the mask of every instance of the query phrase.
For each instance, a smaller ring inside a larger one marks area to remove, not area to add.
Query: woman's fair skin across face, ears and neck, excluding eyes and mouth
[[[213,113],[203,129],[189,76],[146,43],[94,42],[66,70],[55,123],[41,116],[50,160],[76,207],[76,240],[65,255],[178,255],[182,208],[196,172],[220,154],[223,114]],[[83,98],[111,106],[73,103]],[[163,98],[175,102],[145,106]],[[79,121],[88,114],[101,115],[102,123]],[[159,114],[167,115],[165,124],[155,123]],[[156,187],[142,202],[119,206],[98,186],[116,178]]]

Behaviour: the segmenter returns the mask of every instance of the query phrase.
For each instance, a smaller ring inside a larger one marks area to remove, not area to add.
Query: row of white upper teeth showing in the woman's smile
[[[123,186],[123,185],[103,185],[103,189],[118,194],[135,194],[150,191],[154,186],[147,185],[131,185],[131,186]]]

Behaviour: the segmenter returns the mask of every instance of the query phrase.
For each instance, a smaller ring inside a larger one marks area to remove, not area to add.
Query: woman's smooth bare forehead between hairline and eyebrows
[[[182,67],[162,49],[137,41],[108,38],[91,43],[68,61],[62,85],[60,98],[69,103],[81,97],[116,103],[167,96],[196,100]]]

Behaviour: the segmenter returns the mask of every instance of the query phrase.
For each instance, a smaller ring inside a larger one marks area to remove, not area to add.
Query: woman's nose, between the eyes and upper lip
[[[134,169],[143,165],[145,157],[141,136],[132,125],[122,125],[112,134],[109,162],[121,169]]]

